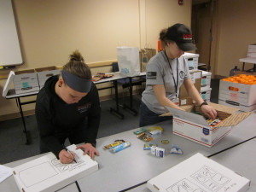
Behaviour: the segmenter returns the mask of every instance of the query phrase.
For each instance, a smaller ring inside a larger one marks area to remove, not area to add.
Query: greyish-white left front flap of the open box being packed
[[[186,112],[183,110],[179,110],[177,108],[170,108],[167,106],[166,106],[166,108],[172,113],[173,116],[175,116],[177,118],[189,120],[191,122],[194,122],[195,124],[204,125],[206,127],[209,127],[207,120],[200,114],[189,113],[189,112]]]

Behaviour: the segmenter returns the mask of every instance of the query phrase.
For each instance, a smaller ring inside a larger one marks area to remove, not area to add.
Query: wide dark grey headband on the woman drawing
[[[67,72],[65,69],[62,70],[61,76],[64,79],[64,82],[73,90],[79,92],[88,93],[91,87],[91,79],[82,79],[78,76]]]

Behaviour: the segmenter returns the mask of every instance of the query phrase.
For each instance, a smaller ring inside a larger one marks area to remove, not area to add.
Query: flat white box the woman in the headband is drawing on
[[[98,170],[98,163],[81,149],[76,150],[76,145],[67,148],[76,154],[77,163],[61,164],[49,153],[16,166],[13,174],[20,192],[56,191]]]

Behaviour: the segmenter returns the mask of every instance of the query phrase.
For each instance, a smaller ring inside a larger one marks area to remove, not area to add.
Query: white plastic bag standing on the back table
[[[140,74],[140,56],[137,47],[117,47],[119,72],[127,77]]]

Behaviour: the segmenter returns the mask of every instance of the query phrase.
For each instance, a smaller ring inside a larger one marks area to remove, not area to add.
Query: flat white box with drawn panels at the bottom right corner
[[[193,155],[147,183],[154,192],[244,192],[249,186],[246,177],[202,154]]]

